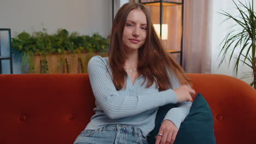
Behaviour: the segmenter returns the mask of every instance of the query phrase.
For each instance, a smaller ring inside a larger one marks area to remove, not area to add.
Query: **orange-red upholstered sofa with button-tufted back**
[[[208,101],[218,144],[256,143],[256,91],[234,77],[188,74]],[[94,115],[87,74],[0,75],[0,143],[73,143]]]

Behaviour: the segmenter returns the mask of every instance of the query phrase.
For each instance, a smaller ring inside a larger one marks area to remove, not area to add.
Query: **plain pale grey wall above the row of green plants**
[[[0,0],[0,28],[11,28],[12,37],[44,27],[49,34],[66,28],[83,35],[98,32],[106,38],[111,25],[112,0]],[[18,59],[13,68],[14,74],[20,73]]]

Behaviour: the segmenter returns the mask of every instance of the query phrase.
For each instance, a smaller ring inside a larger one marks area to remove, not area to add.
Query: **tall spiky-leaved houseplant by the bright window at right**
[[[238,50],[238,57],[235,63],[236,74],[238,71],[238,64],[242,62],[243,64],[248,65],[248,67],[252,68],[253,73],[247,74],[245,76],[253,77],[253,81],[250,83],[251,86],[254,86],[256,89],[256,59],[255,59],[255,28],[256,28],[256,17],[253,11],[253,1],[250,3],[243,4],[238,1],[236,3],[232,0],[236,5],[236,9],[239,11],[239,16],[232,16],[229,13],[223,11],[220,13],[225,15],[226,20],[232,20],[235,22],[235,25],[231,26],[233,28],[228,35],[226,35],[225,39],[222,41],[222,49],[219,53],[219,56],[222,55],[219,66],[223,63],[226,54],[231,50],[231,55],[229,57],[229,64],[231,59],[233,58],[233,54],[235,50]],[[243,10],[244,9],[244,10]],[[234,26],[239,26],[241,28],[234,28]]]

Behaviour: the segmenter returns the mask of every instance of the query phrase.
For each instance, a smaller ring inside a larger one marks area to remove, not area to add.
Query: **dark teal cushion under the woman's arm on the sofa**
[[[155,143],[155,136],[158,134],[162,119],[168,110],[176,107],[175,104],[168,104],[159,107],[155,120],[155,128],[151,131],[148,143]],[[174,144],[180,143],[216,143],[213,131],[213,116],[210,106],[200,93],[197,93],[191,106],[188,116],[181,123]]]

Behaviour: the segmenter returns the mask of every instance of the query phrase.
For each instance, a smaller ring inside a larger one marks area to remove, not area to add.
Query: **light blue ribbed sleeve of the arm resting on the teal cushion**
[[[173,89],[180,87],[181,84],[179,83],[177,76],[173,72],[169,73],[169,75],[170,75]],[[185,117],[188,116],[191,105],[192,105],[192,102],[190,101],[182,101],[181,103],[179,103],[178,107],[174,107],[166,113],[166,116],[163,119],[163,121],[165,119],[168,119],[172,121],[174,125],[179,129]]]

